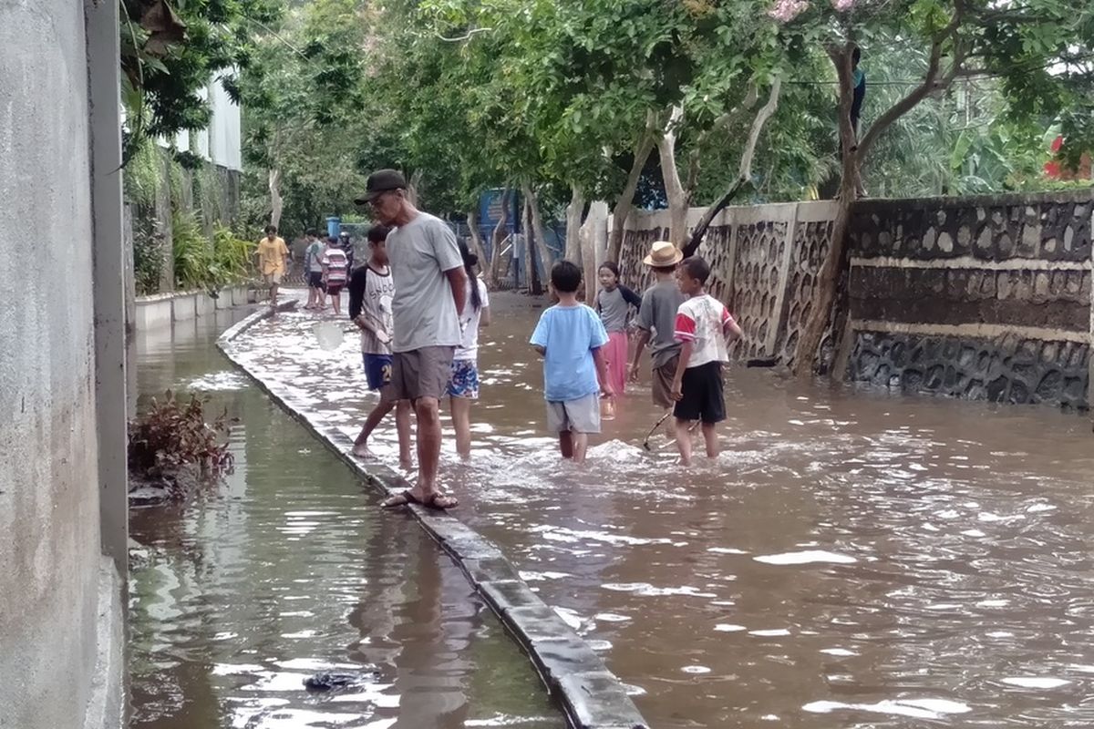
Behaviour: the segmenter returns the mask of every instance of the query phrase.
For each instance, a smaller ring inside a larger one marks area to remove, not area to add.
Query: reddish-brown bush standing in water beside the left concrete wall
[[[141,477],[170,475],[186,465],[199,466],[205,475],[219,478],[232,468],[228,450],[228,411],[206,424],[205,402],[190,397],[186,404],[167,390],[163,402],[129,423],[129,470]],[[223,434],[224,442],[219,442]]]

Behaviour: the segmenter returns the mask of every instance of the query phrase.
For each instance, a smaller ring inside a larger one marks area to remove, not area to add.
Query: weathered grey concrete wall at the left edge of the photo
[[[0,2],[0,726],[19,729],[117,726],[98,701],[119,693],[120,584],[100,527],[84,23],[82,2]]]

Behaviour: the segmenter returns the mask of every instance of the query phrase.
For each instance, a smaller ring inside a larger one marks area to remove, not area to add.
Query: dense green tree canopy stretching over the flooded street
[[[119,0],[127,149],[208,121],[219,79],[245,116],[245,190],[293,225],[352,210],[395,166],[442,213],[494,187],[569,201],[813,197],[841,148],[884,195],[1046,185],[1094,148],[1094,10],[1060,0]],[[863,129],[842,144],[853,48]],[[272,173],[276,172],[276,175]],[[263,200],[265,198],[265,201]]]

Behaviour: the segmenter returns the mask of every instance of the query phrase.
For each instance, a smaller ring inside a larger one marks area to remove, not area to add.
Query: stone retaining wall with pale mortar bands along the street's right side
[[[734,356],[793,364],[835,212],[825,201],[715,217],[699,254],[711,262],[709,291],[744,329]],[[847,298],[822,360],[906,392],[1085,408],[1092,221],[1089,191],[856,203]],[[648,283],[641,258],[667,228],[666,211],[630,216],[625,282]]]

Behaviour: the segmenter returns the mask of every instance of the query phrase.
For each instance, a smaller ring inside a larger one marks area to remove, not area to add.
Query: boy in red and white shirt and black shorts
[[[707,456],[718,456],[717,426],[725,420],[722,363],[730,361],[728,342],[742,334],[725,306],[705,291],[708,278],[710,264],[698,256],[685,259],[676,269],[676,282],[688,296],[676,310],[675,339],[680,342],[680,355],[673,378],[676,447],[684,466],[691,465],[688,428],[695,421],[702,423]]]

